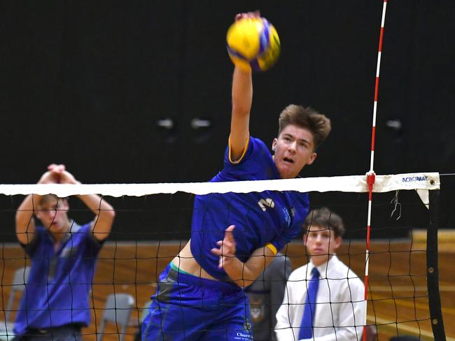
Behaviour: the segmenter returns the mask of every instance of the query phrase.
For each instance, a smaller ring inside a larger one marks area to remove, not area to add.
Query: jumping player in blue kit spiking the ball
[[[297,177],[330,132],[324,115],[288,106],[272,156],[249,134],[252,96],[251,70],[235,66],[224,168],[211,182]],[[190,242],[160,275],[142,324],[143,340],[251,341],[244,287],[300,232],[308,206],[308,195],[295,191],[196,196]]]

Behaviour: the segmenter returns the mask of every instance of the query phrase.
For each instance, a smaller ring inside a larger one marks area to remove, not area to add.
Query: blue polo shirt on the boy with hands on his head
[[[29,278],[22,293],[14,332],[65,324],[90,324],[88,293],[102,242],[91,224],[74,223],[57,250],[47,228],[36,226],[34,239],[22,245],[31,258]]]

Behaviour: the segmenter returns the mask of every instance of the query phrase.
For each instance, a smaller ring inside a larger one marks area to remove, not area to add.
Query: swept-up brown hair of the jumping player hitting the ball
[[[330,129],[332,129],[330,119],[325,117],[325,115],[318,113],[313,108],[304,108],[295,104],[290,104],[284,108],[279,115],[278,136],[289,124],[309,129],[314,136],[314,149],[327,138]]]

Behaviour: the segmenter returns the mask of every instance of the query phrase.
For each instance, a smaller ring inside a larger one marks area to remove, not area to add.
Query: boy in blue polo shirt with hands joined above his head
[[[64,165],[51,164],[38,181],[47,183],[79,182]],[[82,340],[80,328],[90,324],[90,284],[115,212],[97,195],[78,197],[95,215],[82,226],[69,219],[68,201],[53,194],[29,195],[16,212],[16,235],[31,258],[31,269],[15,321],[15,340]]]

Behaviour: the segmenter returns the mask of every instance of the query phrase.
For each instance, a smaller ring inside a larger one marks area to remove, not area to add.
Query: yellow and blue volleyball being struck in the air
[[[265,71],[280,53],[276,29],[264,17],[242,18],[228,29],[228,53],[232,62],[249,71]]]

